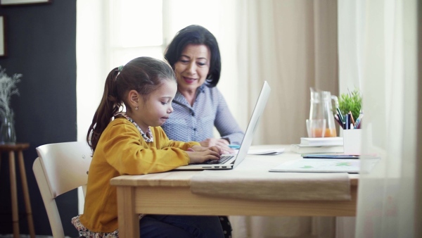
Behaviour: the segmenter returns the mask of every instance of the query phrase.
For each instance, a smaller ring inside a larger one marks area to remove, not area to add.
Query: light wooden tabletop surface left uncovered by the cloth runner
[[[294,159],[301,158],[300,154],[290,151],[290,145],[260,145],[251,146],[251,149],[280,149],[284,152],[279,155],[248,155],[245,160],[234,168],[236,171],[248,173],[251,170],[268,171],[270,168]],[[149,175],[122,175],[110,180],[112,185],[120,186],[147,186],[147,187],[190,187],[191,178],[202,172],[198,171],[168,171]],[[268,172],[270,173],[270,172]],[[357,186],[359,175],[349,174],[351,186]]]

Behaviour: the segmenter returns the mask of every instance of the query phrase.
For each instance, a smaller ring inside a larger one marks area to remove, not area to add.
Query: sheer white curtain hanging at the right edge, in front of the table
[[[421,156],[416,154],[421,151],[417,14],[421,11],[416,0],[339,0],[338,5],[339,29],[351,29],[339,34],[340,82],[360,83],[362,146],[364,153],[381,157],[373,170],[359,175],[356,237],[418,237],[422,170]],[[341,47],[347,45],[352,46],[350,51]],[[420,52],[419,48],[419,60]],[[362,168],[367,163],[362,158]]]

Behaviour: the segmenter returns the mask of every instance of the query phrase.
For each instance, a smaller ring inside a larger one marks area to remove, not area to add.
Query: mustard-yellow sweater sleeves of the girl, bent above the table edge
[[[189,162],[184,151],[188,145],[162,146],[171,143],[157,134],[157,130],[152,130],[154,142],[147,143],[132,123],[118,123],[108,129],[101,135],[101,143],[98,143],[96,150],[103,150],[108,163],[120,175],[160,173]]]

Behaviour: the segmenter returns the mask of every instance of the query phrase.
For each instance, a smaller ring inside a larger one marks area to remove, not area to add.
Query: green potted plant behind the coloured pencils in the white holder
[[[354,89],[347,94],[341,94],[338,99],[338,108],[343,115],[352,112],[354,120],[359,117],[362,110],[362,94],[359,89]]]

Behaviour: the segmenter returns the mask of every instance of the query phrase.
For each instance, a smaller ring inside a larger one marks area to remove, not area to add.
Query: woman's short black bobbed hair
[[[177,32],[165,52],[165,58],[172,65],[173,70],[174,64],[179,61],[182,51],[184,51],[188,44],[205,44],[210,49],[210,72],[207,75],[206,85],[208,87],[215,87],[222,71],[222,60],[217,39],[215,39],[210,31],[200,25],[189,25]]]

